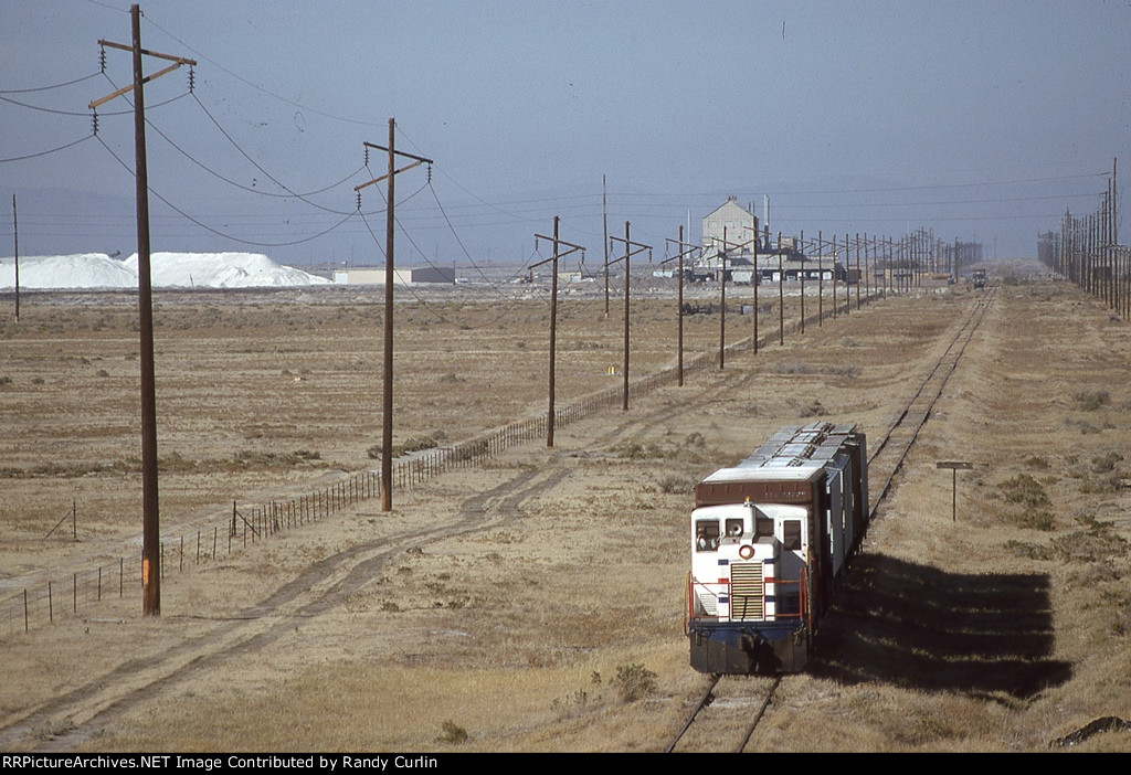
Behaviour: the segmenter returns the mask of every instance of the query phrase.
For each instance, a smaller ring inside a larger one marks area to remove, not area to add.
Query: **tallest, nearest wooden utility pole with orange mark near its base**
[[[157,398],[153,348],[153,284],[149,268],[149,174],[145,147],[144,85],[182,64],[196,66],[183,56],[159,54],[141,47],[141,9],[130,6],[132,44],[98,41],[98,45],[129,51],[133,54],[133,84],[89,104],[93,111],[103,103],[133,92],[133,157],[137,192],[138,232],[138,329],[141,371],[141,610],[145,616],[161,616],[161,517],[157,506]],[[164,70],[146,77],[141,56],[156,56],[173,62]]]

